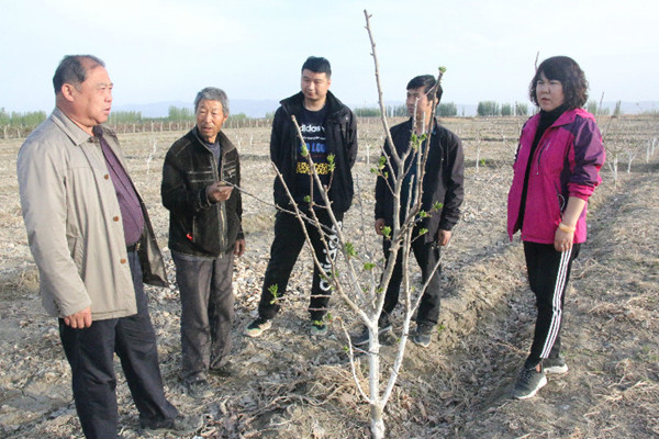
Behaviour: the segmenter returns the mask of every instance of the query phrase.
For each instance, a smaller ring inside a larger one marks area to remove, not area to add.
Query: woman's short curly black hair
[[[536,97],[536,87],[540,75],[549,80],[560,81],[563,87],[563,103],[568,110],[579,109],[588,102],[588,81],[585,75],[577,61],[569,56],[554,56],[545,59],[536,70],[530,85],[528,86],[528,97],[530,102],[538,105]]]

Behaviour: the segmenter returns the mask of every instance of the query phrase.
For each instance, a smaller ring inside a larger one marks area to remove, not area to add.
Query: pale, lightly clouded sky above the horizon
[[[386,101],[444,66],[443,102],[528,103],[539,61],[567,55],[591,99],[659,101],[659,2],[0,0],[0,109],[49,112],[64,55],[105,61],[113,106],[192,102],[206,86],[231,99],[280,100],[300,88],[309,55],[332,63],[331,90],[378,102],[365,29],[371,15]],[[538,55],[539,54],[539,55]],[[530,103],[529,103],[530,106]]]

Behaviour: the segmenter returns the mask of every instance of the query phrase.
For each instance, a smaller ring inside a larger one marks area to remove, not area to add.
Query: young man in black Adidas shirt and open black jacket
[[[311,216],[311,210],[314,210],[321,224],[327,228],[324,233],[330,251],[315,226],[309,223],[305,226],[325,273],[331,272],[332,260],[336,256],[336,230],[323,202],[322,188],[311,178],[305,155],[311,155],[322,185],[327,188],[331,209],[339,225],[353,201],[350,169],[357,157],[355,114],[332,94],[331,85],[330,61],[322,57],[309,57],[302,66],[302,90],[280,102],[270,138],[270,158],[281,172],[294,203],[306,216]],[[304,147],[291,116],[295,116],[300,126]],[[280,299],[286,293],[291,271],[305,239],[300,222],[290,213],[293,206],[279,178],[275,179],[275,203],[278,206],[275,240],[264,280],[258,318],[245,328],[245,335],[249,337],[258,337],[270,328],[270,320],[280,308]],[[315,336],[327,333],[323,317],[327,312],[331,289],[323,280],[323,272],[314,267],[309,312],[311,334]]]

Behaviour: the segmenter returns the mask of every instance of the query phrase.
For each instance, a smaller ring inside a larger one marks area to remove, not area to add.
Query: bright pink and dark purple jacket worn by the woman
[[[568,198],[577,196],[588,202],[602,182],[600,168],[605,153],[602,134],[595,117],[582,109],[568,110],[545,131],[530,161],[526,209],[523,224],[518,223],[524,177],[530,147],[540,114],[530,117],[522,128],[520,146],[513,165],[513,184],[509,192],[507,233],[522,229],[522,240],[554,244]],[[577,222],[574,243],[587,237],[587,207]]]

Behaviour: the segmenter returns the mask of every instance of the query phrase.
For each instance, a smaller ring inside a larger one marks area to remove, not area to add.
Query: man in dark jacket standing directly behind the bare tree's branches
[[[442,86],[431,75],[417,76],[407,83],[407,112],[413,116],[402,124],[391,128],[391,138],[399,155],[410,148],[410,142],[413,134],[422,136],[428,134],[428,140],[421,144],[420,150],[427,149],[427,160],[422,182],[421,210],[427,213],[427,216],[418,218],[413,232],[413,236],[418,236],[425,230],[422,237],[412,241],[412,251],[421,267],[422,283],[428,281],[426,290],[423,292],[418,312],[416,315],[416,333],[412,341],[427,347],[431,344],[432,334],[439,317],[439,277],[442,266],[434,270],[439,261],[439,248],[446,246],[450,240],[451,229],[460,217],[460,204],[463,198],[463,151],[458,136],[444,126],[439,125],[437,120],[431,122],[433,108],[442,99]],[[412,125],[415,120],[416,125]],[[432,125],[431,125],[432,123]],[[429,127],[429,130],[426,130]],[[386,143],[384,154],[391,156],[391,145]],[[410,154],[405,161],[407,170],[401,189],[399,217],[401,224],[406,212],[405,206],[411,205],[414,200],[416,185],[416,154]],[[387,177],[379,177],[376,183],[376,233],[383,234],[386,226],[393,225],[394,199],[391,188],[394,187],[394,176],[399,173],[395,164],[391,161],[393,172],[389,172],[387,167]],[[411,196],[410,196],[411,195]],[[409,202],[409,200],[412,200]],[[384,257],[389,256],[391,240],[387,237],[382,240]],[[379,334],[391,330],[389,315],[393,312],[399,301],[399,292],[402,281],[402,255],[399,252],[393,273],[387,288],[384,305],[379,319]],[[365,345],[369,340],[368,328],[354,337],[355,345]]]

